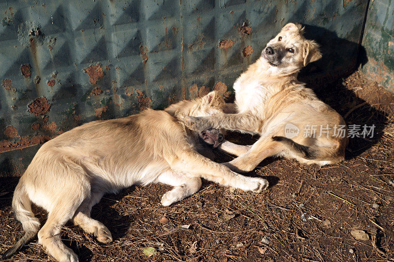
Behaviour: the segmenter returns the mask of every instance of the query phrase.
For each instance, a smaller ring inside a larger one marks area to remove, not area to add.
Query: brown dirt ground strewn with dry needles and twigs
[[[204,181],[197,194],[169,207],[160,204],[169,186],[131,187],[105,195],[92,210],[111,231],[111,244],[72,225],[64,229],[66,244],[80,261],[95,262],[394,261],[393,94],[360,72],[310,87],[348,124],[375,125],[373,138],[351,139],[344,162],[319,167],[267,159],[247,174],[269,180],[262,194]],[[232,158],[215,154],[218,162]],[[23,235],[10,207],[18,179],[7,179],[0,183],[0,253]],[[45,219],[45,212],[35,212]],[[355,230],[362,230],[357,239]],[[34,240],[9,261],[53,260]]]

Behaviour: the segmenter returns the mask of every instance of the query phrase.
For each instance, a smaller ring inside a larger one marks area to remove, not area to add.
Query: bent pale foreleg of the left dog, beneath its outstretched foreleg
[[[174,186],[162,197],[164,206],[184,200],[195,194],[201,187],[201,178],[178,174],[174,171],[166,171],[156,178],[155,182],[161,182]]]

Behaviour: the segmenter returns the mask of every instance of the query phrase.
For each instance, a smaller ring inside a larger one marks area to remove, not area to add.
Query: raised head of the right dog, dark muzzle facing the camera
[[[305,39],[303,30],[300,24],[289,23],[268,42],[262,57],[273,70],[280,74],[296,73],[322,57],[319,45]]]

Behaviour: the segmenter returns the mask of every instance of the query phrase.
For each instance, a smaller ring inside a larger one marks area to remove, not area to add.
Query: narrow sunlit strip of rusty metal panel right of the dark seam
[[[367,75],[394,91],[394,1],[371,0],[362,45],[368,62],[362,67]]]

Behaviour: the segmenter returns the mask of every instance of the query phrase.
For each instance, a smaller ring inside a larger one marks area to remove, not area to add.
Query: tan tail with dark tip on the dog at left
[[[12,208],[14,210],[15,219],[22,223],[23,230],[26,233],[18,242],[15,243],[14,246],[5,251],[1,260],[8,259],[18,252],[24,245],[32,240],[40,227],[39,220],[34,217],[32,204],[25,190],[23,181],[20,181],[15,188],[14,197],[12,199]]]

